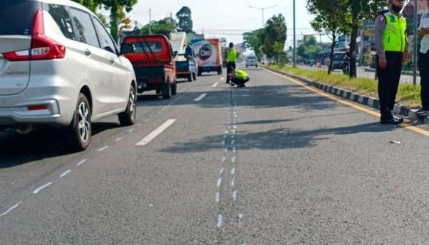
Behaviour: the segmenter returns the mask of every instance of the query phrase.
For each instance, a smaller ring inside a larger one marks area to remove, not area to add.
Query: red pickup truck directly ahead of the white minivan
[[[165,99],[176,94],[175,54],[166,36],[128,36],[120,50],[133,64],[139,93],[156,90]]]

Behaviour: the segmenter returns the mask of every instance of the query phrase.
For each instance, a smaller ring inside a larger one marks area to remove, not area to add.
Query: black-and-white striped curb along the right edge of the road
[[[308,80],[306,78],[299,77],[296,75],[291,75],[287,72],[275,70],[275,69],[272,69],[272,68],[267,67],[267,66],[262,66],[262,67],[264,67],[265,69],[270,70],[272,72],[279,73],[281,75],[293,77],[296,80],[300,80],[301,82],[305,82],[308,85],[311,85],[311,86],[316,87],[318,89],[324,90],[325,92],[329,92],[330,94],[334,94],[338,97],[342,97],[343,99],[348,99],[348,100],[351,100],[353,102],[363,104],[367,107],[371,107],[373,109],[377,109],[377,110],[380,109],[380,102],[376,98],[368,97],[367,95],[363,95],[363,94],[357,94],[356,92],[351,92],[351,91],[348,91],[346,89],[342,89],[341,87],[334,87],[331,85],[325,85],[321,82]],[[429,124],[429,115],[419,117],[419,116],[417,116],[417,114],[415,114],[415,111],[417,111],[417,109],[410,109],[409,107],[405,107],[405,106],[399,105],[399,104],[395,104],[395,108],[393,109],[394,113],[409,117],[410,122],[421,121],[423,124]]]

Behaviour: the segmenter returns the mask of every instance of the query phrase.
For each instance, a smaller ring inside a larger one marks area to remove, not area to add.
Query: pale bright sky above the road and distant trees
[[[242,43],[242,33],[262,28],[264,22],[281,13],[286,19],[286,47],[292,45],[293,39],[293,1],[292,0],[139,0],[129,13],[132,21],[142,26],[151,19],[159,21],[172,13],[173,18],[182,6],[192,11],[193,30],[204,31],[206,38],[227,38],[227,42]],[[249,6],[258,9],[250,8]],[[274,7],[272,7],[274,6]],[[270,8],[272,7],[272,8]],[[262,11],[262,8],[267,8]],[[306,1],[296,0],[296,35],[316,34],[310,26],[313,19],[306,10]],[[318,35],[318,40],[320,36]],[[322,37],[325,41],[326,38]]]

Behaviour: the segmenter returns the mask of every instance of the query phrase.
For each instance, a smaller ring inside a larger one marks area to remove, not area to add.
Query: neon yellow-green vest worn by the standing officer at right
[[[405,28],[407,20],[391,11],[383,13],[386,18],[386,28],[383,32],[383,48],[385,51],[405,51],[406,37]]]

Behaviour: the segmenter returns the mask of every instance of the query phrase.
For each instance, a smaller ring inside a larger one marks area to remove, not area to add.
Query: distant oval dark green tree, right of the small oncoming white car
[[[281,13],[278,16],[273,16],[267,21],[267,24],[264,28],[264,53],[268,58],[275,56],[276,61],[278,61],[279,52],[274,50],[274,43],[278,43],[276,48],[284,48],[284,43],[286,42],[286,21],[284,16]]]

